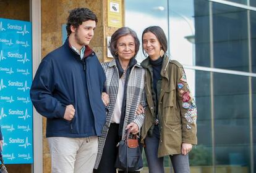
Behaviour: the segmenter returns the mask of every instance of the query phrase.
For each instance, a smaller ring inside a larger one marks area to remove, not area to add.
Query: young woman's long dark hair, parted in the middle
[[[165,35],[163,29],[160,28],[160,26],[149,26],[142,33],[142,42],[143,42],[143,35],[148,32],[155,34],[156,38],[160,42],[160,45],[165,53],[168,49],[168,44],[167,44],[166,35]],[[145,55],[145,57],[147,57],[145,50],[142,50],[142,52]]]

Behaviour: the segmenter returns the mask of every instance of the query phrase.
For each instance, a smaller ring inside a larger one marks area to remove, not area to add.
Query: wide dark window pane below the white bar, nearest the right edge
[[[250,172],[249,78],[215,73],[213,79],[216,172],[226,165]]]

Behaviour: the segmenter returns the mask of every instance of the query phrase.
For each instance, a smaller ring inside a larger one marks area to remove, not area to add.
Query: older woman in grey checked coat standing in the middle
[[[142,127],[145,116],[137,116],[135,112],[139,104],[143,107],[146,105],[145,70],[135,60],[139,46],[137,34],[127,27],[119,28],[111,37],[109,47],[114,59],[102,64],[106,73],[106,93],[110,99],[109,111],[98,140],[94,172],[116,173],[117,143],[124,139],[126,129],[138,134]]]

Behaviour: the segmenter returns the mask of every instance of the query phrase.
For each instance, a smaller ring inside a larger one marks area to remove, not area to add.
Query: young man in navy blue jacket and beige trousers
[[[106,112],[103,68],[88,44],[96,15],[77,8],[67,18],[68,38],[43,58],[30,90],[38,113],[47,118],[51,172],[93,171]]]

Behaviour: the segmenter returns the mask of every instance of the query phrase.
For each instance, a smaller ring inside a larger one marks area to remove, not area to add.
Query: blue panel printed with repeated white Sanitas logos
[[[7,164],[33,163],[32,25],[0,18],[0,125]]]

